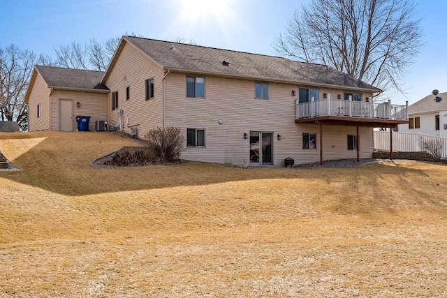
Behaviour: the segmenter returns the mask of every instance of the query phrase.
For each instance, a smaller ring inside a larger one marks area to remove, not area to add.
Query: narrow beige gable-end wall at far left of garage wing
[[[47,131],[50,129],[50,93],[51,89],[41,75],[37,74],[28,101],[28,130]],[[37,117],[37,105],[41,105],[41,117]]]

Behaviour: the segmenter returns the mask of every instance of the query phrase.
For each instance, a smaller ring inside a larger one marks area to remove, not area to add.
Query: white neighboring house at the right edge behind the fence
[[[409,124],[400,124],[400,133],[423,133],[447,138],[447,92],[430,94],[408,107]]]

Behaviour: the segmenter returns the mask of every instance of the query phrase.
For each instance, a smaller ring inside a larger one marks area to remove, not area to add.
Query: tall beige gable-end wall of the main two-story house
[[[145,81],[154,78],[154,98],[145,99]],[[107,99],[108,123],[118,124],[118,110],[123,110],[124,130],[140,124],[138,136],[144,136],[149,129],[162,126],[163,70],[135,50],[129,44],[124,45],[119,59],[112,69],[105,85],[110,92],[118,91],[118,109],[112,110],[111,94]],[[130,87],[130,98],[126,100],[126,87]],[[129,123],[126,124],[126,121]]]

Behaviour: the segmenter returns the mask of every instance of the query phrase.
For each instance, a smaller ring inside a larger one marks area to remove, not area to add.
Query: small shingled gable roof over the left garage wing
[[[29,100],[31,89],[38,74],[41,75],[48,88],[94,92],[109,91],[108,87],[99,83],[104,75],[103,71],[36,65],[24,97],[25,103]]]

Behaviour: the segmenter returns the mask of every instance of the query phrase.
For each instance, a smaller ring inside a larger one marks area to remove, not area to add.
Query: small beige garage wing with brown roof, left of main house
[[[94,70],[35,66],[24,101],[29,131],[76,131],[76,116],[107,119],[110,90],[99,84],[104,73]]]

